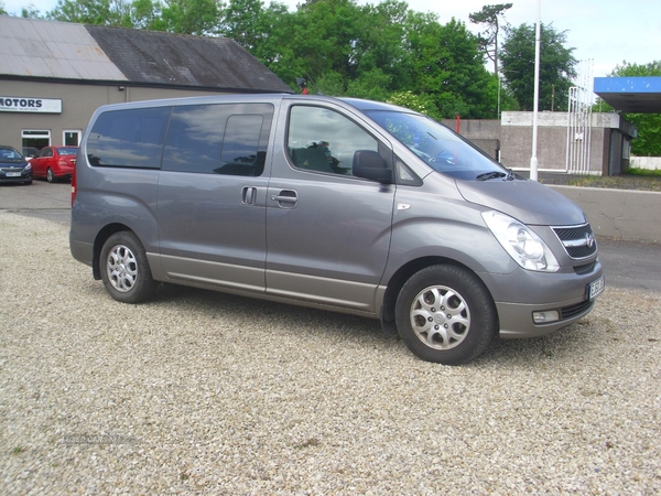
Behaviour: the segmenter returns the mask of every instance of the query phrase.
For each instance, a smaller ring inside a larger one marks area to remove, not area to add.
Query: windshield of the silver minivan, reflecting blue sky
[[[432,119],[391,110],[366,114],[437,172],[463,180],[513,179],[510,171]]]

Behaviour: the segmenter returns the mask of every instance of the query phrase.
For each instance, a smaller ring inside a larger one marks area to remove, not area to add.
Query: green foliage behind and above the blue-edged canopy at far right
[[[622,62],[608,75],[609,77],[660,77],[661,61],[649,64],[629,64]],[[598,111],[613,110],[608,104],[597,103]],[[624,114],[622,117],[638,129],[638,138],[631,141],[631,153],[638,157],[661,157],[661,115]]]

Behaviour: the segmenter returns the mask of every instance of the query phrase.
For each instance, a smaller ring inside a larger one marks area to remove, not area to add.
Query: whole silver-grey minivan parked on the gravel
[[[364,315],[442,364],[572,324],[604,290],[578,206],[375,101],[104,106],[72,202],[72,254],[118,301],[164,281]]]

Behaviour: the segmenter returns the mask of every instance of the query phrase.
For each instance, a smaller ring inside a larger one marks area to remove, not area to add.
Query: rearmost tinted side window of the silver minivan
[[[87,139],[91,165],[159,169],[172,107],[101,114]]]

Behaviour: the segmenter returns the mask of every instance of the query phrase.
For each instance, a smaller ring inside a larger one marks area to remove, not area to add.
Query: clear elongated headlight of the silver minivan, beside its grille
[[[521,267],[540,272],[560,270],[551,249],[528,226],[495,211],[483,212],[483,217],[498,242]]]

